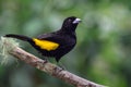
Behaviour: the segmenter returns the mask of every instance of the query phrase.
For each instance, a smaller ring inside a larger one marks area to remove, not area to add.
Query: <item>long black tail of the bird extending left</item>
[[[23,35],[8,34],[4,37],[12,37],[12,38],[21,39],[21,40],[24,40],[24,41],[32,41],[32,38],[23,36]]]

